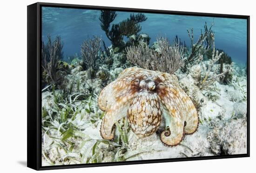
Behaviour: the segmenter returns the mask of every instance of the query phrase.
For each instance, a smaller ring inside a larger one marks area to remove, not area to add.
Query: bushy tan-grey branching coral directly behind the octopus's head
[[[173,74],[183,64],[183,45],[175,39],[173,45],[169,45],[168,39],[156,38],[160,53],[150,49],[147,44],[132,45],[126,48],[127,59],[141,68],[156,70]]]

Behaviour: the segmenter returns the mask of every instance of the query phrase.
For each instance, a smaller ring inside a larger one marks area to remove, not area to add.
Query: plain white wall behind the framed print
[[[253,0],[41,0],[44,2],[250,15],[251,157],[116,167],[55,170],[53,172],[246,172],[255,167],[256,60]],[[35,0],[2,0],[0,9],[0,170],[32,172],[27,168],[27,5]],[[232,43],[230,43],[232,44]]]

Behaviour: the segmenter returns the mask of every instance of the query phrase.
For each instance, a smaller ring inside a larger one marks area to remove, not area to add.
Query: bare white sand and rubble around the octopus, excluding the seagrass
[[[115,61],[115,58],[114,58]],[[116,67],[114,62],[113,70],[108,71],[110,80],[113,81],[124,67]],[[104,66],[101,67],[104,70]],[[216,70],[219,64],[215,65]],[[232,66],[233,80],[229,85],[222,85],[215,82],[210,89],[200,90],[196,85],[198,65],[190,68],[187,74],[179,70],[175,73],[179,78],[182,89],[190,96],[200,118],[197,131],[192,135],[185,135],[180,145],[167,147],[160,141],[159,132],[145,137],[137,137],[131,130],[128,132],[128,145],[125,152],[121,152],[124,160],[151,160],[181,157],[198,157],[227,154],[247,153],[247,77],[245,69],[238,67],[236,63]],[[98,115],[102,111],[97,106],[97,97],[101,91],[101,79],[92,79],[85,82],[86,71],[81,71],[81,66],[75,67],[70,75],[67,75],[67,83],[80,80],[79,90],[82,93],[89,93],[88,85],[94,88],[95,96],[92,97],[91,109],[88,113],[86,104],[78,105],[81,111],[67,121],[72,123],[78,130],[68,140],[73,147],[70,149],[68,142],[58,138],[61,134],[56,129],[48,129],[48,134],[43,132],[42,136],[42,165],[61,165],[118,161],[117,155],[120,151],[116,147],[117,142],[101,142],[97,146],[96,154],[92,154],[95,142],[102,140],[100,135],[101,119]],[[75,88],[75,87],[74,87]],[[60,90],[56,92],[61,92]],[[42,93],[42,107],[51,113],[53,95],[49,91]],[[80,103],[77,103],[80,104]],[[93,120],[93,121],[92,121]],[[56,127],[61,128],[61,123],[55,121]],[[118,131],[116,130],[116,133]],[[117,134],[118,135],[118,134]],[[116,136],[117,136],[116,135]],[[55,138],[53,138],[55,137]],[[65,148],[66,146],[66,148]],[[68,147],[67,147],[68,146]],[[115,148],[115,149],[114,149]],[[122,150],[123,151],[123,150]]]

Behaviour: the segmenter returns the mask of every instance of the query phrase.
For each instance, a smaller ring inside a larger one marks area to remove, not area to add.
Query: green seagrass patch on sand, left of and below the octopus
[[[94,95],[66,95],[53,85],[52,90],[43,95],[43,101],[42,158],[49,165],[99,163],[105,159],[106,152],[112,155],[111,161],[124,161],[155,149],[130,151],[128,133],[131,128],[124,118],[115,123],[114,141],[95,140],[83,133],[88,125],[97,126],[105,115],[105,112],[98,113]]]

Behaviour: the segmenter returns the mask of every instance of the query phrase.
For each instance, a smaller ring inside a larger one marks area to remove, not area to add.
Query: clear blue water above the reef
[[[150,44],[156,36],[167,36],[173,40],[178,35],[187,45],[190,39],[187,29],[194,28],[195,42],[203,29],[214,21],[212,30],[215,32],[216,48],[222,49],[231,56],[236,63],[245,64],[247,59],[247,21],[246,19],[212,18],[186,15],[144,13],[148,19],[141,23],[141,33],[147,33],[151,38]],[[113,23],[128,18],[130,12],[117,12]],[[52,38],[61,35],[64,42],[64,59],[75,53],[80,53],[83,40],[93,35],[103,38],[106,45],[111,42],[101,30],[99,10],[85,10],[72,8],[42,7],[42,40],[47,41],[47,34]]]

